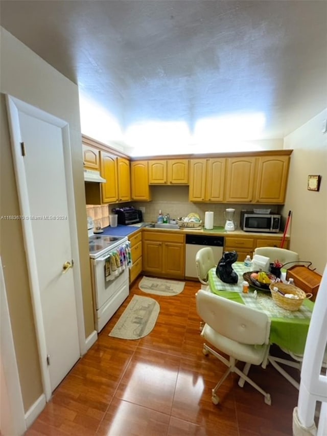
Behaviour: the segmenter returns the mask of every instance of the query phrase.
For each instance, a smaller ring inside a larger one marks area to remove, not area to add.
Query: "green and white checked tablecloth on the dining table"
[[[314,304],[310,300],[305,300],[299,310],[291,312],[278,307],[272,300],[270,291],[257,290],[257,297],[254,298],[255,288],[250,286],[249,293],[244,294],[242,292],[243,273],[249,271],[250,268],[245,267],[243,262],[236,262],[232,266],[239,276],[238,283],[230,285],[222,282],[216,276],[216,268],[212,268],[208,273],[211,291],[228,300],[267,313],[271,319],[270,342],[295,354],[303,354]]]

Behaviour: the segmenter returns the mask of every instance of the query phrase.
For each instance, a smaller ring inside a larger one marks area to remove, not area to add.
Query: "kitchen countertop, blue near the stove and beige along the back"
[[[244,232],[243,230],[235,230],[233,232],[226,232],[223,226],[214,226],[212,230],[207,230],[203,227],[198,228],[179,228],[178,230],[172,230],[169,228],[154,228],[154,227],[139,227],[132,225],[122,225],[119,224],[117,227],[104,227],[102,235],[112,235],[112,236],[129,236],[134,232],[137,232],[144,228],[150,232],[173,232],[173,233],[184,233],[184,234],[198,234],[198,235],[215,235],[215,236],[228,236],[228,237],[279,237],[283,236],[283,232],[278,233],[260,233],[260,232]],[[286,237],[289,239],[289,236]]]

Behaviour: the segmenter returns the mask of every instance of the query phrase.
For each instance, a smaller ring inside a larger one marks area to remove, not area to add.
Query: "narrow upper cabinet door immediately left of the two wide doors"
[[[205,199],[223,201],[226,159],[209,159]]]

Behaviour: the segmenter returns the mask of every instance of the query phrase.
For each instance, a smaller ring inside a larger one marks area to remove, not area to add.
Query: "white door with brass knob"
[[[73,264],[63,150],[67,132],[57,119],[27,112],[10,111],[11,133],[34,312],[41,312],[37,329],[45,342],[40,347],[38,337],[41,366],[53,392],[80,357],[74,274],[63,268]]]

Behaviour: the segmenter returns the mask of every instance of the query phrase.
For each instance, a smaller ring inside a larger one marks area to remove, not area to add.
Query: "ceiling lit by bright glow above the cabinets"
[[[245,125],[236,117],[259,114],[265,125],[247,139],[277,139],[327,107],[325,1],[0,6],[1,25],[77,83],[122,131],[175,122],[192,134],[199,120],[214,119],[216,133],[224,126],[238,132]],[[227,116],[231,122],[219,124]]]

